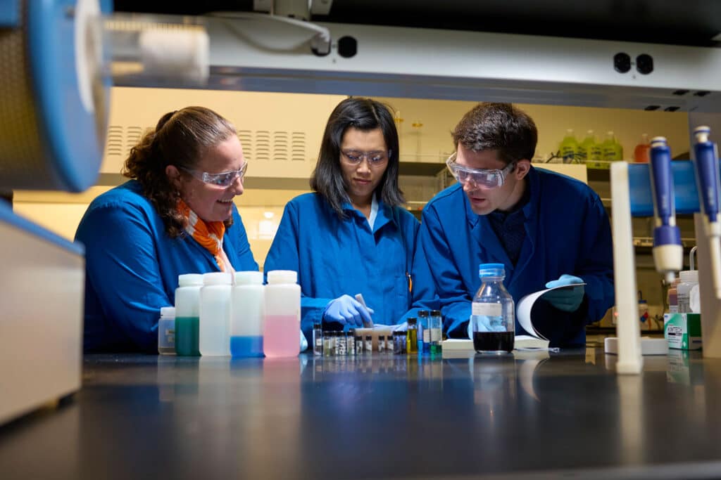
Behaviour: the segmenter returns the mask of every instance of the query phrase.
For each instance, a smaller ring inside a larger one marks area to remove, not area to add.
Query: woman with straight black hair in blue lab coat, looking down
[[[265,271],[298,272],[309,340],[315,322],[360,326],[373,314],[376,323],[397,323],[420,291],[411,291],[419,223],[402,208],[398,164],[389,108],[372,99],[341,101],[325,127],[314,192],[288,202],[265,259]]]

